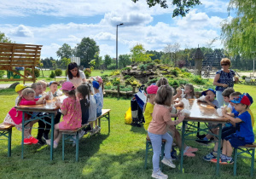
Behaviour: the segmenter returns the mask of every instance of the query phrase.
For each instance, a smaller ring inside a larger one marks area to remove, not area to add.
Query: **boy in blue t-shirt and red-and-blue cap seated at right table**
[[[223,110],[225,118],[229,118],[231,122],[239,124],[236,127],[236,133],[226,136],[223,141],[222,154],[220,156],[220,164],[230,165],[234,163],[231,155],[233,153],[233,147],[245,146],[252,144],[254,141],[253,127],[251,115],[247,112],[247,108],[251,105],[251,102],[247,95],[239,95],[231,102],[235,104],[236,112],[238,116],[236,118],[227,115],[226,110]],[[211,162],[216,163],[217,159],[212,159]]]

